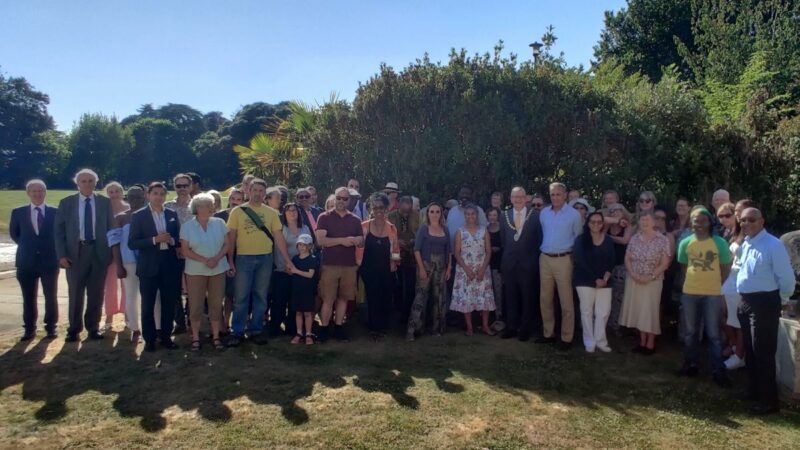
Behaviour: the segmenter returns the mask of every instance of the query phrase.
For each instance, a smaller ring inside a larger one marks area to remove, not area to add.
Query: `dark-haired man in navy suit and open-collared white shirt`
[[[178,263],[180,222],[178,214],[164,208],[167,187],[153,182],[147,187],[150,204],[131,218],[128,247],[139,252],[136,260],[136,276],[139,277],[139,292],[142,295],[142,336],[144,350],[156,350],[156,294],[161,293],[161,330],[158,336],[161,346],[175,349],[172,342],[172,325],[175,318],[175,299],[179,294],[178,280],[181,277]]]

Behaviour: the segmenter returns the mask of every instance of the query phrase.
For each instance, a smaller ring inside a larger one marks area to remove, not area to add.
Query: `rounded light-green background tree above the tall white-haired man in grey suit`
[[[133,145],[130,132],[116,117],[84,114],[69,136],[67,175],[91,167],[105,183],[120,176],[119,160]]]

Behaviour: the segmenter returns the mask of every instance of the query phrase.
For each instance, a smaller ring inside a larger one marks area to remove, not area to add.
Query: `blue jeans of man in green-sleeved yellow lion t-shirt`
[[[722,296],[689,295],[681,296],[681,320],[684,326],[684,362],[697,367],[700,359],[700,321],[703,321],[708,338],[708,356],[711,371],[725,371],[720,341],[720,318],[722,316]]]

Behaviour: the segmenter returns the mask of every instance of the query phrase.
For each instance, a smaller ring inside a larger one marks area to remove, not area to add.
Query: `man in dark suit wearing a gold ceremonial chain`
[[[518,336],[527,341],[531,333],[539,333],[539,246],[542,228],[539,213],[525,207],[525,189],[511,190],[512,207],[500,217],[500,237],[503,259],[500,270],[505,288],[506,329],[501,335],[508,339]],[[535,329],[534,329],[535,328]]]

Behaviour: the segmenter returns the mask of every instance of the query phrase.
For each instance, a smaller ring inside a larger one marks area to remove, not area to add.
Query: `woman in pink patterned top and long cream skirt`
[[[669,239],[656,230],[652,209],[640,212],[638,228],[625,253],[627,279],[621,323],[639,330],[639,346],[633,351],[652,355],[656,335],[661,334],[659,303],[664,271],[672,261],[672,254]]]

